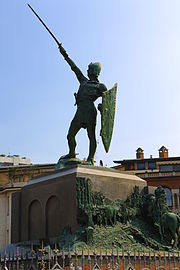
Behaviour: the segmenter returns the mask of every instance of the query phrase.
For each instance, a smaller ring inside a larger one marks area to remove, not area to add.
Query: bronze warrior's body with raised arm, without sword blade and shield
[[[102,96],[102,93],[107,91],[104,84],[99,83],[98,76],[101,71],[100,63],[90,63],[87,70],[88,78],[86,78],[81,70],[75,65],[75,63],[69,58],[68,54],[62,46],[59,47],[64,59],[70,65],[74,71],[80,86],[77,94],[75,93],[77,111],[70,124],[69,132],[67,135],[69,153],[63,156],[63,159],[75,158],[76,140],[75,136],[81,128],[87,129],[89,138],[89,155],[86,164],[94,164],[94,155],[96,152],[96,116],[97,110],[94,106],[94,101]],[[101,109],[101,104],[98,106]]]

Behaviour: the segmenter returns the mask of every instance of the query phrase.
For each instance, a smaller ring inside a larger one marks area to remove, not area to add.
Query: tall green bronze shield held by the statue
[[[101,110],[101,137],[106,153],[111,144],[114,116],[116,107],[117,83],[110,90],[103,93]]]

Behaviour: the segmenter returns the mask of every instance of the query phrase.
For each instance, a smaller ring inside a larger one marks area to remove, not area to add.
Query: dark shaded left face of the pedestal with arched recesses
[[[13,195],[12,242],[57,237],[76,221],[76,179],[72,175],[30,182]]]

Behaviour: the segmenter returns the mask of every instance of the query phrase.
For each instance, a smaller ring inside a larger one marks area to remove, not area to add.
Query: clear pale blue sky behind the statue
[[[165,145],[180,155],[180,1],[29,0],[86,74],[102,64],[100,81],[118,83],[112,144],[105,153],[100,116],[97,161],[158,156]],[[0,9],[0,152],[57,162],[68,152],[78,82],[56,44],[24,0]],[[99,99],[97,103],[101,102]],[[88,155],[86,131],[77,135],[79,158]]]

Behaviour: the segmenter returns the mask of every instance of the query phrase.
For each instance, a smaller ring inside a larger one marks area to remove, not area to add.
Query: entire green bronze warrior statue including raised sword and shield
[[[98,80],[98,76],[101,71],[100,63],[90,63],[88,65],[87,77],[85,77],[82,71],[76,66],[76,64],[72,61],[72,59],[68,56],[66,50],[62,47],[62,44],[56,39],[56,37],[52,34],[49,28],[45,25],[42,19],[38,16],[38,14],[34,11],[34,9],[28,4],[33,13],[37,16],[46,30],[53,37],[55,42],[58,44],[59,51],[63,55],[66,62],[69,64],[72,71],[75,73],[80,86],[77,93],[74,93],[77,105],[76,114],[70,124],[67,139],[69,146],[69,153],[65,156],[62,156],[58,161],[58,167],[63,167],[65,165],[69,165],[72,163],[79,163],[79,160],[76,159],[76,140],[75,136],[79,132],[81,128],[87,129],[87,134],[89,138],[89,155],[87,157],[87,161],[85,164],[93,165],[94,164],[94,155],[96,152],[97,142],[96,142],[96,118],[97,118],[97,110],[94,106],[94,102],[97,98],[102,97],[103,93],[108,93],[104,95],[104,101],[102,106],[99,106],[98,109],[102,113],[102,140],[105,147],[106,152],[109,150],[112,131],[114,125],[114,113],[115,113],[115,100],[116,100],[116,89],[117,85],[113,88],[114,91],[109,90],[104,84],[100,83]],[[112,102],[113,101],[113,102]],[[106,107],[107,106],[107,107]],[[107,113],[108,111],[108,113]]]

